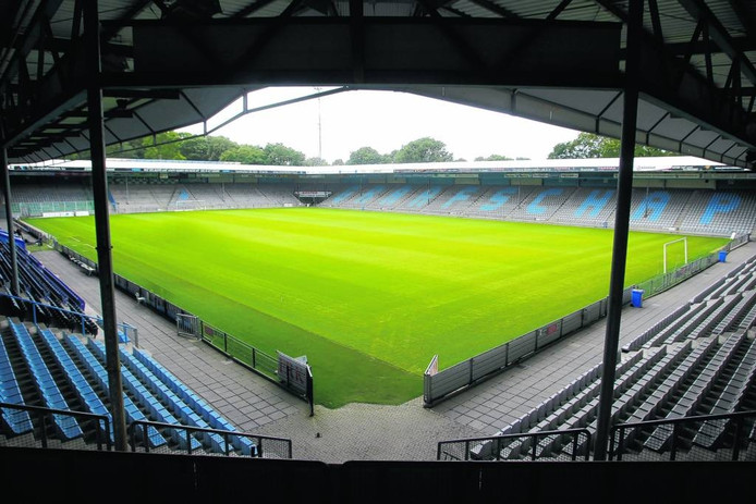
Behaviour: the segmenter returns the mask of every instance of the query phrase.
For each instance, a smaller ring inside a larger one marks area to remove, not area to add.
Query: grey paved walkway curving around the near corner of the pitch
[[[621,345],[754,254],[756,245],[748,244],[731,253],[727,262],[646,299],[643,308],[626,308],[622,316]],[[87,276],[57,251],[36,255],[84,297],[90,312],[99,312],[97,278]],[[137,305],[133,297],[117,291],[115,303],[118,320],[137,328],[139,347],[154,355],[240,430],[290,438],[296,458],[326,463],[430,460],[436,458],[438,441],[493,434],[599,362],[606,331],[605,321],[598,321],[432,409],[424,408],[418,397],[400,406],[350,404],[336,410],[316,406],[315,416],[310,417],[303,401],[208,345],[178,336],[172,322]]]

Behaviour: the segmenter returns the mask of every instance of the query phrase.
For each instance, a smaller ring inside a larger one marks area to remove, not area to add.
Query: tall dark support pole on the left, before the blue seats
[[[97,0],[84,2],[84,37],[87,63],[87,109],[89,126],[89,153],[92,156],[92,193],[95,200],[95,228],[97,234],[97,266],[102,303],[102,329],[105,330],[106,369],[110,408],[113,418],[115,450],[125,452],[126,421],[123,409],[121,362],[118,354],[118,325],[115,322],[115,291],[110,242],[108,209],[108,180],[105,158],[102,124],[102,89],[100,87],[100,24]]]

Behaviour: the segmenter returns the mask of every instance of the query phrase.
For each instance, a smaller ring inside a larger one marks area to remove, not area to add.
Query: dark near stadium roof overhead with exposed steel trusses
[[[88,149],[82,0],[0,3],[11,162]],[[99,0],[106,143],[204,123],[275,85],[391,89],[611,137],[629,2]],[[753,168],[756,3],[656,0],[639,46],[637,140]],[[341,87],[343,86],[343,87]],[[249,109],[243,106],[244,113]]]

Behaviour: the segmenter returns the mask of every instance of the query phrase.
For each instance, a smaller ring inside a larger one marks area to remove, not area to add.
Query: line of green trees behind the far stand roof
[[[71,158],[86,159],[87,152]],[[307,158],[292,147],[277,143],[265,146],[237,144],[224,136],[196,136],[190,133],[166,132],[154,137],[141,138],[107,148],[108,157],[126,159],[166,159],[190,161],[228,161],[243,164],[321,167],[329,163],[320,158]],[[593,133],[581,133],[571,142],[557,144],[549,159],[618,158],[620,140]],[[675,152],[637,145],[636,157],[675,156]],[[527,158],[510,158],[503,155],[490,155],[475,158],[475,161],[510,161]],[[412,140],[401,148],[381,153],[373,147],[361,147],[350,153],[349,159],[337,159],[333,165],[340,164],[391,164],[466,161],[454,159],[443,142],[430,137]]]

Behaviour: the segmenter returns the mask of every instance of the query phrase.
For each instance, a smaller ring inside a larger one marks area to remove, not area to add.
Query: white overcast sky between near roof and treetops
[[[249,95],[248,108],[286,100],[312,88],[268,88]],[[233,115],[241,102],[219,118]],[[209,121],[209,127],[220,123]],[[200,133],[198,127],[182,131]],[[281,143],[329,163],[361,147],[389,153],[417,138],[443,142],[454,159],[490,155],[546,159],[553,146],[578,132],[498,112],[391,91],[346,91],[246,114],[214,135],[239,144]]]

